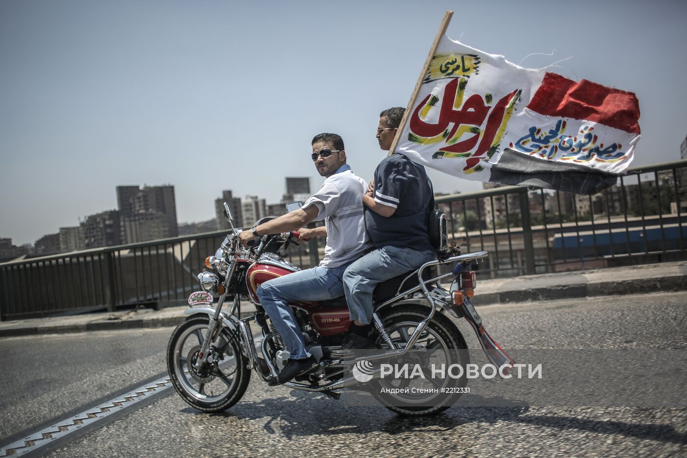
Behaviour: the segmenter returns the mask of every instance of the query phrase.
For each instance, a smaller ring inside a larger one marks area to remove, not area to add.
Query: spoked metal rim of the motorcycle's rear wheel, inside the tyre
[[[419,325],[420,323],[418,322],[403,321],[387,326],[387,332],[394,344],[403,348]],[[436,397],[444,397],[441,390],[450,386],[451,383],[447,378],[432,378],[430,368],[431,364],[445,364],[446,366],[444,367],[451,364],[451,351],[455,350],[451,349],[447,339],[441,336],[435,329],[427,326],[409,353],[406,353],[401,360],[391,361],[391,364],[398,364],[399,367],[408,364],[408,375],[412,373],[415,364],[420,364],[425,378],[383,378],[379,379],[379,382],[384,388],[400,390],[398,392],[387,392],[387,395],[394,397],[403,404],[427,404],[427,402],[431,402]],[[438,392],[413,393],[413,388],[436,389]],[[408,389],[407,393],[404,392],[405,389]]]

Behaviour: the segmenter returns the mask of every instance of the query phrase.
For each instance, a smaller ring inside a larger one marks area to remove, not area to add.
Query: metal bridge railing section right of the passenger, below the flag
[[[489,252],[492,278],[687,257],[687,160],[631,168],[591,196],[502,186],[435,200],[449,240]]]

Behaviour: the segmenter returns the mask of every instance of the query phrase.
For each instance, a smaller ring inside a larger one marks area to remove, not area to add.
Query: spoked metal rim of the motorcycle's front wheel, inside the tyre
[[[232,345],[226,332],[222,331],[223,338],[218,339],[224,347],[220,349],[221,353],[218,353],[215,346],[218,342],[212,342],[208,351],[212,351],[213,356],[221,354],[223,359],[219,360],[218,364],[192,373],[193,364],[189,358],[197,356],[206,331],[207,321],[190,325],[179,335],[174,345],[174,375],[187,395],[200,402],[212,403],[223,400],[239,382],[236,358],[238,349]]]

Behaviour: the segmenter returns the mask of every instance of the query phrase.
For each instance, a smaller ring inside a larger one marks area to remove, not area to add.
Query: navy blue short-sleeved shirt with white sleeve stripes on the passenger
[[[374,201],[396,208],[390,217],[365,211],[365,226],[375,248],[434,249],[429,242],[434,193],[424,166],[400,153],[385,157],[374,171]]]

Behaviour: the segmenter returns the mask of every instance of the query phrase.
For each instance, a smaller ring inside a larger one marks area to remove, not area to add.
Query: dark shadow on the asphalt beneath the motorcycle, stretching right
[[[470,402],[459,403],[458,406],[453,406],[438,415],[401,417],[376,404],[374,398],[369,395],[346,393],[346,396],[337,401],[313,397],[312,394],[294,390],[291,397],[280,396],[259,402],[243,401],[228,411],[213,416],[247,420],[267,419],[263,426],[265,432],[282,434],[289,439],[295,436],[350,433],[440,433],[474,422],[517,422],[559,430],[584,430],[675,444],[684,444],[687,440],[685,435],[667,424],[639,424],[561,415],[529,415],[530,406],[498,397],[472,395]],[[495,404],[498,406],[493,406]],[[207,415],[194,408],[185,408],[181,413]],[[275,430],[272,425],[277,420],[279,426],[278,430]]]

